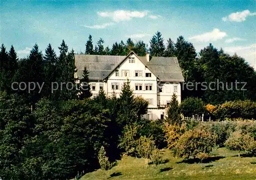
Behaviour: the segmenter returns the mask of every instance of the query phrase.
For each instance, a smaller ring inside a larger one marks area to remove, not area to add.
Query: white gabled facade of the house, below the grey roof
[[[181,102],[181,84],[179,82],[161,82],[146,68],[135,54],[130,54],[105,81],[91,81],[91,93],[97,96],[103,88],[107,96],[113,92],[118,97],[124,82],[130,81],[135,96],[142,96],[148,101],[148,119],[162,119],[166,115],[166,107],[176,93]]]

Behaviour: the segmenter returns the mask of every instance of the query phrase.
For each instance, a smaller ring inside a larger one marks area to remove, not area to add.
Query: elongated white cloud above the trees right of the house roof
[[[211,32],[189,37],[188,39],[189,40],[195,39],[196,41],[199,41],[199,42],[209,42],[209,41],[216,41],[218,39],[222,39],[225,36],[227,36],[225,32],[221,32],[219,29],[214,29]]]

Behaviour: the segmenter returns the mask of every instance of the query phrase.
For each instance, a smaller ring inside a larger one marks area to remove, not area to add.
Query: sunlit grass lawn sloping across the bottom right
[[[175,159],[169,150],[162,150],[165,160],[157,169],[149,165],[144,169],[144,159],[123,156],[111,170],[106,171],[108,179],[256,179],[256,158],[239,158],[236,151],[219,148],[214,156],[203,163]],[[84,179],[105,179],[105,172],[97,170],[81,177]]]

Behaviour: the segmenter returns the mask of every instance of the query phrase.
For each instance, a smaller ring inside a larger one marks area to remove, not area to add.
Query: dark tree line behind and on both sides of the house
[[[1,91],[13,92],[11,89],[12,82],[45,82],[44,92],[40,92],[40,94],[38,94],[38,88],[33,93],[26,91],[18,91],[18,93],[26,96],[32,104],[41,97],[51,99],[77,98],[77,91],[68,91],[67,88],[51,93],[51,82],[76,81],[73,76],[75,73],[74,51],[69,51],[64,40],[58,49],[60,54],[56,56],[54,49],[49,44],[43,55],[35,44],[28,57],[18,59],[13,46],[7,52],[4,44],[2,44],[0,52]],[[214,105],[233,100],[256,100],[256,73],[253,68],[244,58],[236,54],[231,56],[225,53],[223,49],[218,50],[211,43],[199,53],[196,52],[194,45],[186,41],[183,36],[179,36],[176,42],[168,38],[165,46],[162,34],[158,31],[150,40],[149,47],[142,40],[134,42],[128,38],[126,43],[121,40],[119,43],[113,43],[111,48],[105,48],[102,38],[97,41],[94,47],[92,36],[89,35],[85,43],[85,51],[80,52],[80,54],[121,56],[129,54],[130,51],[134,51],[139,56],[144,56],[146,52],[150,52],[151,57],[177,57],[185,79],[182,99],[198,97],[205,103]],[[90,74],[87,70],[85,70],[84,75],[86,82],[89,81],[88,76]],[[220,85],[220,82],[224,85]],[[235,82],[240,82],[237,88],[234,86]],[[244,86],[242,82],[246,85]],[[190,84],[190,88],[186,88],[188,83],[192,84],[192,86]],[[209,86],[204,88],[203,83],[208,85],[211,83],[211,89]],[[241,91],[241,89],[245,89],[245,91]]]

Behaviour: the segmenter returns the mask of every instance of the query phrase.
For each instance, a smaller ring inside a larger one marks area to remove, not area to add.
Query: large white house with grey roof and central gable
[[[93,96],[103,89],[107,96],[117,97],[127,79],[135,96],[142,96],[149,103],[148,119],[163,119],[173,93],[181,101],[182,72],[176,57],[75,55],[76,78],[82,78],[86,66],[89,71]]]

